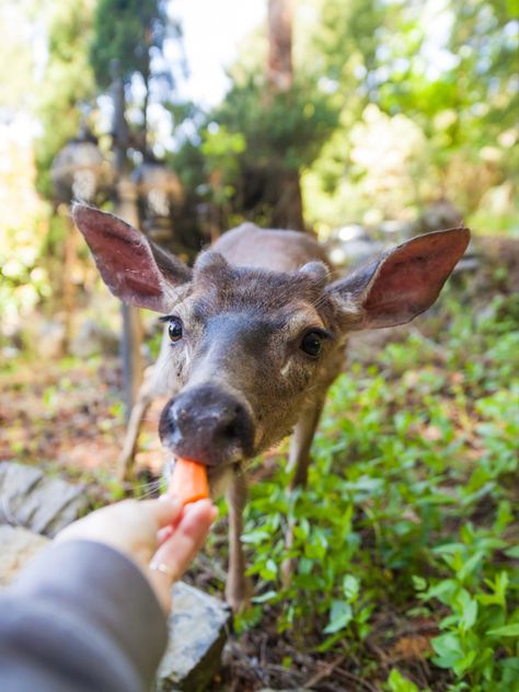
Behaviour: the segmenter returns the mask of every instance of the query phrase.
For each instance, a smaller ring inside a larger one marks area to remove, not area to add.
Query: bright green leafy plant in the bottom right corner
[[[510,607],[519,573],[509,576],[496,560],[495,553],[507,549],[496,531],[476,531],[469,523],[460,539],[434,550],[447,565],[447,578],[428,588],[423,579],[415,581],[423,601],[436,599],[449,610],[431,642],[432,660],[466,679],[474,692],[511,689],[507,685],[519,679],[519,608]],[[507,553],[517,556],[517,549]]]

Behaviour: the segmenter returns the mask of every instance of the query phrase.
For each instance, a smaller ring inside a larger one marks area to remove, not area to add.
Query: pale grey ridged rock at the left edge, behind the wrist
[[[50,538],[85,514],[84,485],[45,476],[34,466],[0,463],[0,523],[22,526]]]

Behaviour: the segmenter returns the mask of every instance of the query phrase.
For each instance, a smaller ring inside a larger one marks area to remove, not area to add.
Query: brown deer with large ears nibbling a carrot
[[[204,464],[211,497],[227,496],[226,599],[240,610],[250,596],[240,540],[250,461],[291,434],[289,491],[305,485],[348,335],[407,323],[432,305],[470,230],[412,238],[337,277],[305,232],[245,222],[188,267],[116,216],[76,204],[72,217],[112,293],[160,313],[164,323],[148,395],[169,396],[162,445]]]

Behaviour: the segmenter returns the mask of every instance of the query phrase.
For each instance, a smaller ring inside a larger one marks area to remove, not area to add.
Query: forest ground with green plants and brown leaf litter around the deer
[[[503,662],[516,660],[506,633],[517,626],[517,255],[514,243],[485,242],[476,274],[454,278],[427,319],[353,339],[307,493],[287,499],[282,447],[256,464],[244,535],[255,601],[215,690],[511,689],[499,685],[517,670]],[[135,482],[114,480],[116,357],[42,364],[33,354],[0,373],[0,460],[88,482],[99,504],[158,492],[163,401],[147,416]],[[221,514],[187,577],[216,593],[223,504]],[[289,518],[298,569],[284,588]]]

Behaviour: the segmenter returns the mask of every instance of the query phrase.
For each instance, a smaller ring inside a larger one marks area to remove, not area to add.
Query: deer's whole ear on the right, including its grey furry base
[[[427,310],[469,240],[466,228],[419,235],[332,284],[327,291],[342,309],[347,328],[404,324]]]

